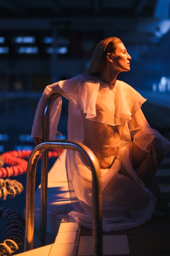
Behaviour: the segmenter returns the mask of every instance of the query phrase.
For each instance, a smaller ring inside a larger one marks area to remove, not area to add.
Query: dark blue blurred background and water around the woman
[[[30,132],[46,85],[81,74],[95,45],[110,36],[132,56],[131,71],[118,79],[148,99],[148,122],[170,139],[169,10],[161,0],[0,1],[0,154],[34,147]],[[67,107],[63,99],[58,130],[65,137]],[[26,189],[25,174],[15,179]],[[0,203],[22,214],[24,200],[25,192]]]

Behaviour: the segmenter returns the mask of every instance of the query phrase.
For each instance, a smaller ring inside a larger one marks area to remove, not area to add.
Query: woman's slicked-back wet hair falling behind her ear
[[[106,65],[107,53],[114,56],[117,44],[122,41],[117,37],[108,37],[96,45],[92,54],[89,67],[85,70],[85,74],[99,76],[103,73]]]

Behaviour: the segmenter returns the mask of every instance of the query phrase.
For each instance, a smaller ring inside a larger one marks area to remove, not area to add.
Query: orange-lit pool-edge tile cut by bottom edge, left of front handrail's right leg
[[[49,256],[72,256],[73,250],[74,243],[53,244]]]

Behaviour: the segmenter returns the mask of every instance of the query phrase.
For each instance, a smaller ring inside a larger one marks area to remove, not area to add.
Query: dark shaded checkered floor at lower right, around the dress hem
[[[103,255],[170,256],[170,157],[165,158],[150,190],[164,217],[153,217],[138,227],[103,232]],[[163,174],[163,175],[162,175]],[[165,179],[163,179],[165,177]],[[168,195],[167,195],[168,194]],[[92,230],[81,227],[78,256],[92,255]]]

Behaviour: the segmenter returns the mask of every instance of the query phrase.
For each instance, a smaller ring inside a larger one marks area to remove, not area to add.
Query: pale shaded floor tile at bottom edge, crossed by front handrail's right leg
[[[103,255],[130,254],[128,236],[103,236]],[[92,236],[80,237],[78,256],[92,255]]]

